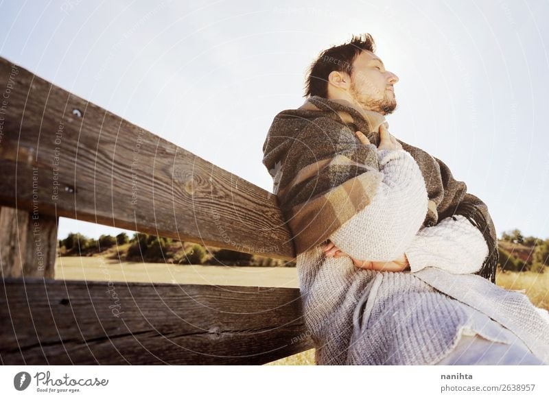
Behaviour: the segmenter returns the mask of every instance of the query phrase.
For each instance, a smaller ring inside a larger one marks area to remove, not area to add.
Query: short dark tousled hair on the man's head
[[[375,51],[375,43],[370,34],[352,36],[349,43],[330,47],[309,66],[305,81],[305,95],[328,97],[328,75],[331,71],[345,72],[351,75],[353,61],[362,51]]]

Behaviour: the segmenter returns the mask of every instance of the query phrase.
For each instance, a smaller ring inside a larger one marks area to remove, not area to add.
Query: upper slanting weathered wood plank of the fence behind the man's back
[[[0,87],[0,204],[294,258],[274,195],[3,58]]]

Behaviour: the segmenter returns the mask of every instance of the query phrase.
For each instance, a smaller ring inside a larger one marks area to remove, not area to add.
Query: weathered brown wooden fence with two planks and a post
[[[185,132],[181,132],[185,134]],[[276,197],[0,58],[3,364],[263,364],[312,348],[299,289],[54,279],[59,217],[290,261]]]

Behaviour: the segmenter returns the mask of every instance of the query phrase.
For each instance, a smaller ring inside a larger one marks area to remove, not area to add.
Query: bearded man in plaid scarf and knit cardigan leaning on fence
[[[320,53],[307,101],[279,112],[264,143],[316,362],[549,362],[547,320],[492,284],[487,206],[441,160],[388,132],[397,82],[373,38],[353,36]]]

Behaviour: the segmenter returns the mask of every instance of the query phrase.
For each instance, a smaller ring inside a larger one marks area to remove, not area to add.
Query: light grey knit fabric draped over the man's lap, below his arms
[[[549,363],[549,323],[522,293],[433,267],[417,273],[358,269],[349,257],[326,258],[320,246],[297,261],[319,365],[435,364],[464,331],[510,345],[519,337]]]

